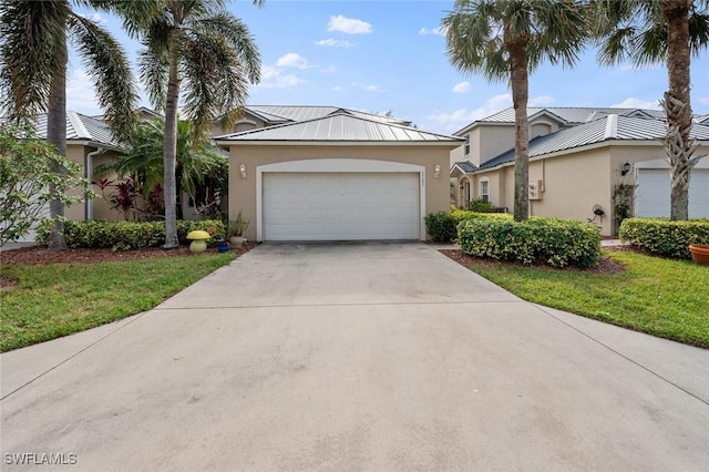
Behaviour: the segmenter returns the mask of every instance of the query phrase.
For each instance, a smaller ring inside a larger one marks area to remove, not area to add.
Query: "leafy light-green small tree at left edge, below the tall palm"
[[[65,172],[58,174],[58,167]],[[83,194],[75,188],[83,188]],[[0,126],[0,246],[44,219],[50,202],[73,205],[91,196],[79,163],[38,140],[31,130]]]

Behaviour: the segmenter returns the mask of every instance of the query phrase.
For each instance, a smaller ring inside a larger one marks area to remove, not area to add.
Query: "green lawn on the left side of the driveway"
[[[103,264],[2,265],[0,351],[115,321],[158,305],[234,259],[233,253]]]

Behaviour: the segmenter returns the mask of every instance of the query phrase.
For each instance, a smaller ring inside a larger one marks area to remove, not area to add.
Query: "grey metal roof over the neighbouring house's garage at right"
[[[607,115],[530,141],[530,157],[540,157],[559,151],[582,147],[605,141],[657,141],[665,136],[665,122],[656,119]],[[690,137],[709,141],[709,125],[693,124]],[[496,167],[514,162],[514,148],[481,164],[479,170]]]

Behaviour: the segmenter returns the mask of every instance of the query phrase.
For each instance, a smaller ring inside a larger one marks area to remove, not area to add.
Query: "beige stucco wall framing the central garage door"
[[[289,161],[349,158],[398,162],[425,167],[425,213],[450,209],[450,181],[445,164],[450,146],[443,145],[232,145],[229,150],[229,216],[240,211],[250,220],[246,238],[256,240],[256,168],[259,165]],[[247,167],[243,178],[239,165]],[[434,166],[441,175],[434,177]]]

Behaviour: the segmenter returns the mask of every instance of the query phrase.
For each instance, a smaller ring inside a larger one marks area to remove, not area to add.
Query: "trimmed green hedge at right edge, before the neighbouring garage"
[[[618,236],[651,254],[689,259],[690,244],[709,244],[709,219],[627,218]]]

